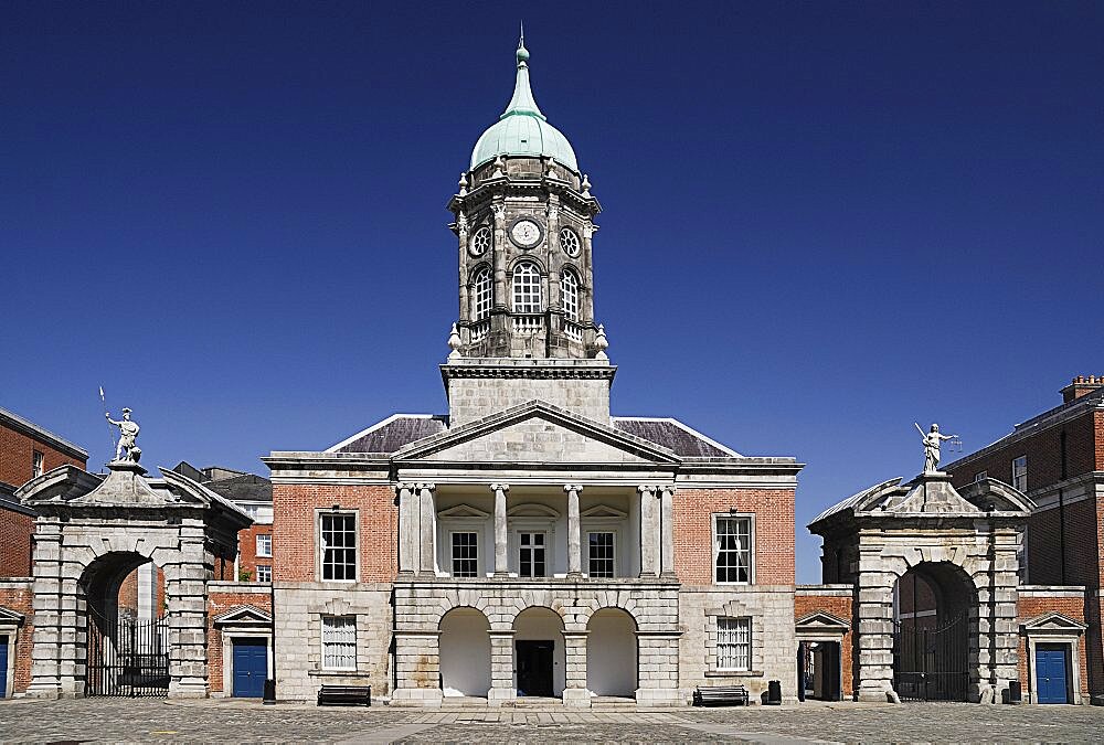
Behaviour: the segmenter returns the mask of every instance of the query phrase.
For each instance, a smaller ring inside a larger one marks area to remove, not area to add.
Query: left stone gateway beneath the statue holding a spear
[[[93,645],[106,637],[109,648],[124,646],[117,629],[104,635],[94,625],[89,635],[88,619],[98,616],[110,626],[118,618],[119,584],[132,570],[152,562],[163,573],[167,630],[163,639],[148,639],[141,647],[168,658],[168,681],[163,685],[157,681],[159,690],[172,698],[204,698],[206,583],[216,562],[233,561],[237,531],[252,520],[173,471],[161,469],[163,480],[155,481],[144,478],[146,469],[136,462],[116,461],[108,468],[107,478],[100,480],[62,466],[17,492],[39,514],[34,646],[26,694],[56,699],[88,692],[89,636]],[[134,647],[137,641],[127,643]],[[141,682],[132,670],[128,674]]]

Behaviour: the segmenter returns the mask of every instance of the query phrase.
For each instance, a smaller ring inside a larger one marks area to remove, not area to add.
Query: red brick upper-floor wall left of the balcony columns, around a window
[[[335,504],[360,514],[360,581],[393,582],[399,573],[399,508],[395,507],[395,490],[389,486],[274,483],[275,578],[282,582],[316,579],[315,510]],[[789,541],[793,546],[793,530]]]

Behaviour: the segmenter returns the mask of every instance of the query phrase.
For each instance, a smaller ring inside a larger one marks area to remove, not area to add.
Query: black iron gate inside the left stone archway
[[[105,616],[89,606],[85,695],[168,695],[168,634],[163,618]]]

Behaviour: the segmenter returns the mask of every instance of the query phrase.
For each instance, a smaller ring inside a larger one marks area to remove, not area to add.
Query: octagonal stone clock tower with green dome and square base
[[[594,321],[591,260],[602,207],[567,138],[537,106],[524,38],[516,57],[513,97],[476,141],[448,202],[459,255],[459,315],[442,374],[454,424],[469,418],[455,404],[460,379],[473,376],[560,380],[567,389],[577,387],[571,380],[602,380],[601,411],[583,408],[608,419],[615,368],[606,359],[605,331]],[[564,405],[577,400],[567,391],[535,390],[530,383],[516,396],[491,397],[503,407],[533,398]]]

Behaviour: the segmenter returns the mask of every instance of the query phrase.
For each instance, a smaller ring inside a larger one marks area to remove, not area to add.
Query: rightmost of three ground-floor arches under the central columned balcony
[[[586,630],[586,688],[594,695],[635,695],[636,620],[620,608],[602,608]]]

